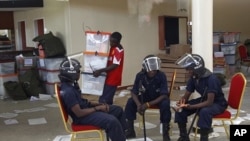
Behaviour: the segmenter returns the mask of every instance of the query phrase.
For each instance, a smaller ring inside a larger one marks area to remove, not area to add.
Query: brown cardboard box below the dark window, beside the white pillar
[[[191,47],[187,44],[170,45],[171,56],[181,57],[185,53],[191,53]]]

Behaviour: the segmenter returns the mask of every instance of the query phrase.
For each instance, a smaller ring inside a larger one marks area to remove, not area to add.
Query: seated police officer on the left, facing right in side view
[[[62,100],[73,123],[98,126],[105,129],[112,141],[125,141],[126,122],[123,109],[82,98],[77,82],[80,78],[80,68],[80,63],[75,59],[65,59],[59,68]]]

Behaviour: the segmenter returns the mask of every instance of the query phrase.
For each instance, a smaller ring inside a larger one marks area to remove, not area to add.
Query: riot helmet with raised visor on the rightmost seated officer
[[[176,64],[187,70],[193,70],[193,75],[197,78],[206,77],[211,74],[211,72],[205,68],[203,58],[198,54],[186,53],[176,61]]]

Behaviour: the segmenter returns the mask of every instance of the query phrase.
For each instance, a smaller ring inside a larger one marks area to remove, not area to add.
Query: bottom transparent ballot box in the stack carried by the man
[[[92,73],[82,72],[82,93],[92,95],[102,95],[106,75],[94,77]]]

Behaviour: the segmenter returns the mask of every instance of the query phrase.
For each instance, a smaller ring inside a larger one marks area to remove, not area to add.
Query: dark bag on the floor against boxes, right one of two
[[[27,96],[36,96],[45,93],[42,82],[39,79],[39,72],[37,69],[27,70],[24,74],[19,75],[19,82],[27,94]]]

